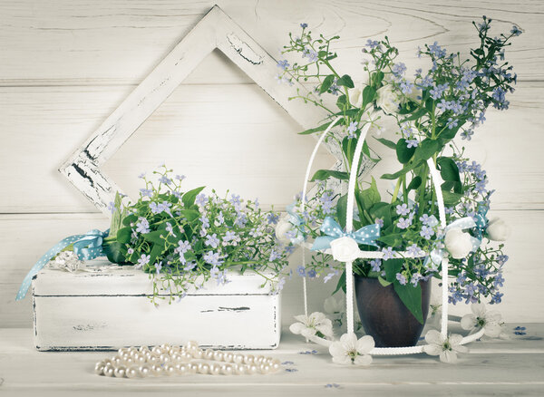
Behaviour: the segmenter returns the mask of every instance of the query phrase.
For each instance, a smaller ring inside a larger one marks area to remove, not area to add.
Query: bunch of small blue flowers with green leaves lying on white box
[[[125,207],[118,196],[110,237],[104,242],[108,258],[133,264],[153,280],[151,300],[183,297],[190,286],[209,279],[228,283],[228,271],[252,271],[263,277],[263,287],[279,291],[291,245],[277,241],[278,215],[263,211],[257,202],[237,195],[219,197],[203,187],[183,192],[184,177],[171,176],[162,166],[153,171],[157,181],[141,175],[140,198]]]

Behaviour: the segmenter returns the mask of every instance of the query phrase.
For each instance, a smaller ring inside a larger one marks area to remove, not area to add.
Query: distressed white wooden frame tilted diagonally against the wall
[[[59,171],[76,189],[108,214],[108,204],[121,189],[101,169],[162,102],[213,50],[219,49],[257,83],[303,128],[324,119],[325,111],[302,101],[288,101],[293,87],[277,83],[277,61],[257,44],[218,5],[214,5],[180,43],[155,67],[98,130],[76,150]],[[295,82],[295,88],[306,88]],[[341,153],[332,145],[327,150],[342,164]]]

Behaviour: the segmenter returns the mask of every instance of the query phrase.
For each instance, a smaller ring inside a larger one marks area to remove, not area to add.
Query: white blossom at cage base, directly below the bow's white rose
[[[329,346],[329,353],[333,356],[333,363],[355,365],[370,365],[372,355],[370,351],[374,349],[374,338],[364,335],[357,340],[353,333],[343,334],[340,341],[333,342]]]

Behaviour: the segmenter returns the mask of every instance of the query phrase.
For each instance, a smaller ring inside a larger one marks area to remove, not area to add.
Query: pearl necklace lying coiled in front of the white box
[[[209,361],[222,363],[208,363]],[[262,355],[221,352],[199,348],[196,342],[184,346],[161,344],[151,350],[121,348],[111,359],[96,363],[94,373],[117,378],[136,378],[161,375],[188,375],[202,373],[210,375],[252,375],[255,373],[277,373],[280,362]]]

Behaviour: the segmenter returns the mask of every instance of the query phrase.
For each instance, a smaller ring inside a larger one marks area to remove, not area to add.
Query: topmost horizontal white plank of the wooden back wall
[[[327,35],[339,34],[338,53],[354,65],[356,80],[363,73],[355,65],[367,38],[389,36],[411,65],[416,62],[417,46],[435,40],[452,51],[466,52],[467,45],[476,42],[471,21],[488,15],[496,20],[497,29],[510,31],[511,24],[519,24],[527,32],[511,52],[520,79],[544,77],[540,67],[544,48],[539,40],[544,5],[538,1],[3,0],[0,43],[5,58],[0,82],[137,84],[215,4],[273,57],[286,43],[287,32],[296,32],[299,23]],[[191,82],[214,82],[221,74],[199,73]],[[239,76],[228,76],[240,82]]]

